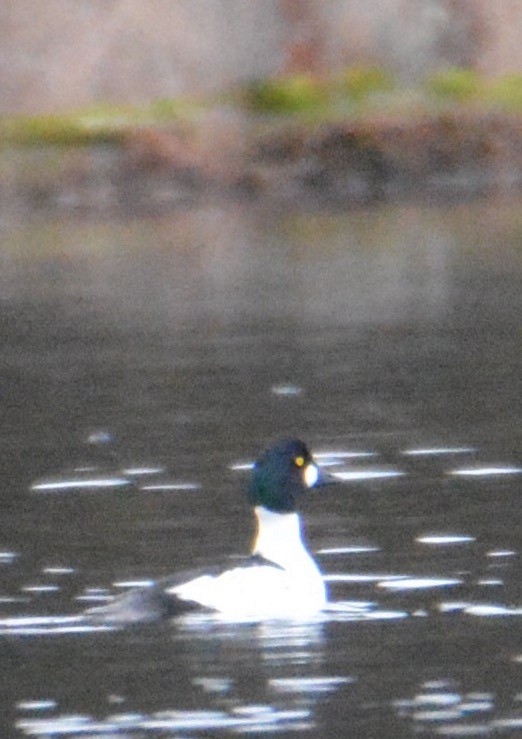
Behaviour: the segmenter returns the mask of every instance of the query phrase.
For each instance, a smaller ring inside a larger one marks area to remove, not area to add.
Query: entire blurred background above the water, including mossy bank
[[[516,0],[6,3],[0,212],[517,187],[521,26]]]

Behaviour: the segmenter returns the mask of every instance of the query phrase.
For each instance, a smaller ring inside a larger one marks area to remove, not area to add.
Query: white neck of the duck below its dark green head
[[[257,521],[254,554],[285,569],[302,569],[306,564],[316,567],[303,543],[298,513],[276,513],[263,506],[256,506],[254,513]]]

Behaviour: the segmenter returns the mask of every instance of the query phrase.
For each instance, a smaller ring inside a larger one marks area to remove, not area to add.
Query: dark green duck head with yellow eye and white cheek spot
[[[283,439],[255,463],[248,497],[253,506],[291,513],[302,493],[325,482],[306,444],[299,439]]]

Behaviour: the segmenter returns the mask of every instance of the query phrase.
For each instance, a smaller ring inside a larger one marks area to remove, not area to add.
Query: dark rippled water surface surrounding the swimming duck
[[[2,737],[521,735],[522,201],[0,237]],[[324,618],[71,618],[247,551],[288,433]]]

